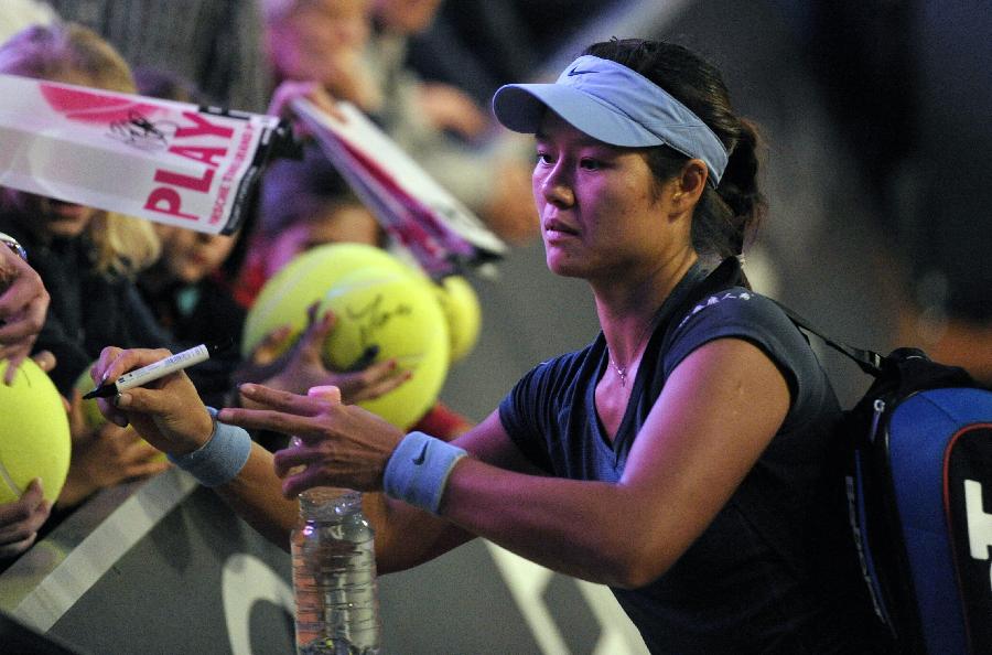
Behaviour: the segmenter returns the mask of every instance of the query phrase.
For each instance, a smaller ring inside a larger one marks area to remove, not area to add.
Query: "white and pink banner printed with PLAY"
[[[229,234],[270,151],[271,116],[0,75],[0,186]]]

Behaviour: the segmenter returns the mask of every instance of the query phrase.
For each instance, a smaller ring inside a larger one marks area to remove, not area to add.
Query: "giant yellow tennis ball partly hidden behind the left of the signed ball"
[[[306,308],[322,300],[338,278],[366,267],[411,270],[381,248],[365,244],[328,244],[294,257],[266,282],[248,312],[241,354],[250,356],[267,334],[282,325],[291,325],[293,334],[302,332]]]

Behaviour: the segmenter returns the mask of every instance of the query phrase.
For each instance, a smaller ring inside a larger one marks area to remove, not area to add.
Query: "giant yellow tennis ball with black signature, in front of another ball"
[[[369,347],[378,351],[374,362],[396,359],[410,379],[359,405],[399,428],[416,423],[448,376],[448,322],[434,292],[405,271],[367,267],[334,282],[321,304],[328,309],[337,323],[324,344],[327,364],[352,368]]]

